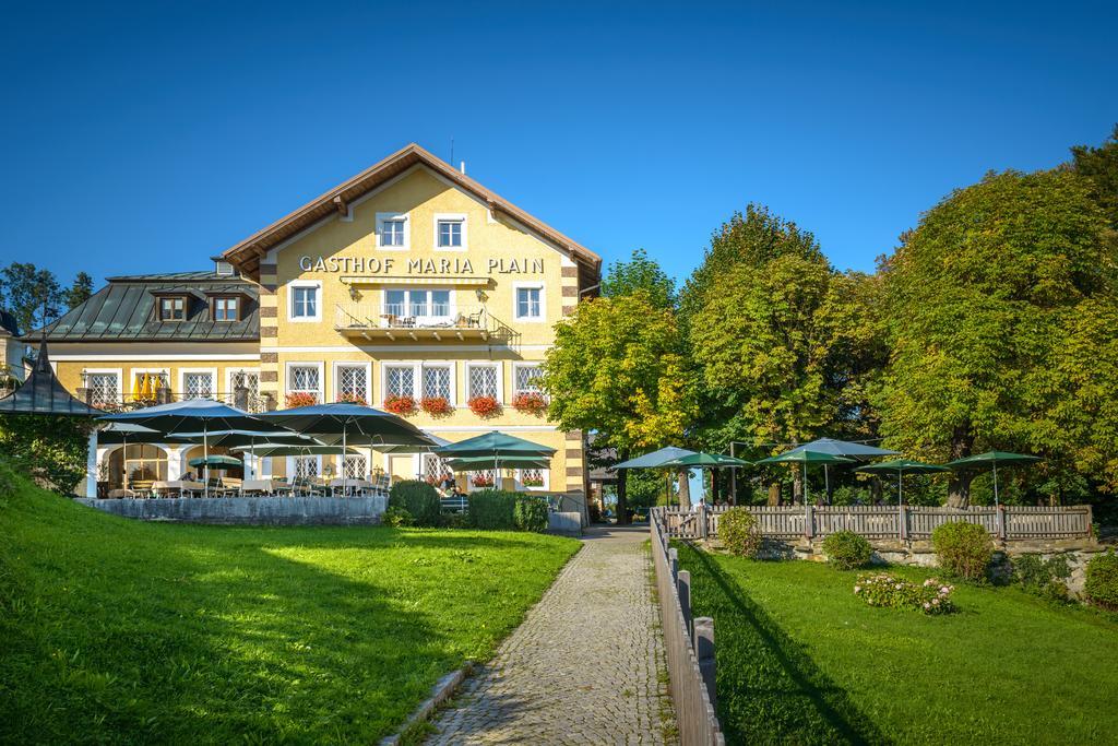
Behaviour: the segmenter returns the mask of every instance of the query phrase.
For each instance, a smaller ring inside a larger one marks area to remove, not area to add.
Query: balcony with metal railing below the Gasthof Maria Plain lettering
[[[508,342],[517,332],[484,305],[338,303],[334,329],[367,341]]]

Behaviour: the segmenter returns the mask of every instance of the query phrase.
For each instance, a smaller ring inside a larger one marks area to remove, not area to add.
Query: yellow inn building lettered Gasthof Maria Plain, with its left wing
[[[63,385],[94,404],[138,398],[145,376],[174,398],[249,408],[410,398],[407,417],[447,441],[500,429],[555,447],[550,470],[500,476],[585,508],[581,433],[523,405],[555,324],[597,290],[596,254],[413,144],[215,258],[214,272],[110,278],[50,324]],[[119,483],[125,469],[176,479],[196,455],[173,444],[129,448],[98,448],[103,482]],[[368,451],[344,465],[334,456],[260,464],[272,475],[342,468],[396,478],[443,469],[432,454]]]

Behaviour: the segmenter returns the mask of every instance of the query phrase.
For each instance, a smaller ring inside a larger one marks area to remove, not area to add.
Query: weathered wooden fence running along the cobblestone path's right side
[[[662,514],[653,510],[652,559],[664,631],[672,703],[682,746],[724,746],[714,714],[714,620],[691,617],[691,574],[667,546]]]

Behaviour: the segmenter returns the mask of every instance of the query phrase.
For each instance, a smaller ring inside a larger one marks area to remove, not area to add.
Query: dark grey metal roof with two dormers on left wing
[[[184,321],[160,321],[153,293],[189,292]],[[246,296],[240,321],[211,321],[209,304],[199,296],[235,294]],[[38,341],[41,330],[23,339]],[[46,327],[51,342],[98,341],[257,341],[260,338],[259,302],[256,285],[236,275],[214,272],[178,272],[161,275],[110,277],[108,284],[89,300],[67,311]]]

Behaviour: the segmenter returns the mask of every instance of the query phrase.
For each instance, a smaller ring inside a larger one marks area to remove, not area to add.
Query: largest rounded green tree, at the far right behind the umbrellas
[[[1091,185],[1068,171],[992,173],[927,213],[882,263],[888,443],[928,459],[1033,452],[1058,492],[1076,463],[1112,470],[1099,417],[1116,390],[1099,367],[1115,355],[1116,259]],[[953,480],[949,504],[968,504],[969,482]]]

